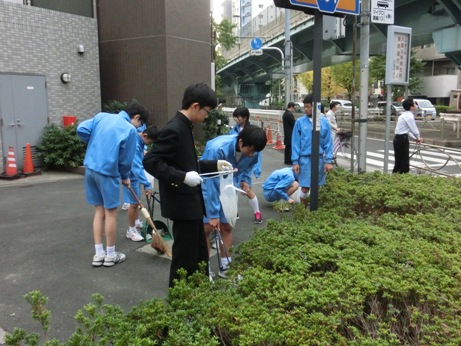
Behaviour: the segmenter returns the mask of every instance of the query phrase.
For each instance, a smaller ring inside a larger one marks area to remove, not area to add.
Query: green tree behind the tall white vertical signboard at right
[[[408,89],[412,94],[419,94],[421,92],[421,86],[423,83],[421,72],[424,68],[425,63],[416,59],[416,56],[411,52],[410,57],[410,81]],[[370,78],[376,81],[385,81],[386,77],[386,56],[379,55],[374,56],[370,59],[370,68],[369,68]],[[386,90],[386,86],[383,88]],[[405,94],[405,87],[402,85],[394,85],[392,87],[392,98],[396,100],[398,97],[401,97]]]

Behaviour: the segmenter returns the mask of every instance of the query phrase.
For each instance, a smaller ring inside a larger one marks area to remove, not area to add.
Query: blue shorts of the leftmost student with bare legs
[[[117,208],[120,205],[120,178],[99,174],[86,167],[85,193],[88,204]]]

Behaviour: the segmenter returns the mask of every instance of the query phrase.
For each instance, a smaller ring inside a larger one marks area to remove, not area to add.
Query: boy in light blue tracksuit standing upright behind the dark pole
[[[293,162],[293,171],[299,176],[299,185],[301,186],[300,201],[307,207],[307,197],[311,187],[312,94],[306,95],[303,102],[306,116],[298,118],[295,122],[291,139],[291,161]],[[325,172],[333,169],[331,164],[333,141],[331,139],[331,127],[327,118],[319,114],[317,120],[320,121],[318,184],[321,186],[325,185]]]

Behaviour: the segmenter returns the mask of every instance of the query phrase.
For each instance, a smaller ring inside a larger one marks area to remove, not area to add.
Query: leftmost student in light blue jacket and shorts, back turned
[[[77,135],[87,143],[84,160],[85,193],[94,205],[94,267],[112,267],[125,260],[115,251],[120,180],[130,185],[130,171],[136,152],[136,128],[146,123],[149,112],[133,100],[119,114],[98,113],[77,127]],[[106,250],[103,246],[103,234]]]

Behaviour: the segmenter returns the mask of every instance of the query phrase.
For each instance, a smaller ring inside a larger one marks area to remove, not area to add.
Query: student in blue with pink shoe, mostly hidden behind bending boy
[[[236,125],[231,128],[229,132],[229,134],[231,135],[233,134],[238,135],[245,128],[245,126],[250,125],[250,111],[246,107],[237,107],[234,110],[233,117],[234,117],[234,121]],[[257,157],[257,161],[253,167],[253,174],[255,178],[258,179],[261,176],[262,155],[261,153],[258,153],[258,152],[256,152],[255,155]],[[239,186],[239,185],[240,185],[240,181],[237,181],[236,186]],[[250,186],[251,186],[251,176],[250,176]],[[248,200],[250,201],[250,206],[253,209],[253,213],[255,215],[255,223],[257,224],[262,223],[263,220],[261,216],[261,210],[259,209],[258,197],[251,189],[250,191],[248,191],[246,196],[248,197]]]

